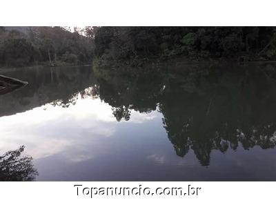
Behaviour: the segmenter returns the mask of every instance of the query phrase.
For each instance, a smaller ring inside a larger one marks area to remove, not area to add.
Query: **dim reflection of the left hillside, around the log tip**
[[[29,84],[22,90],[14,90],[0,99],[0,117],[24,112],[52,103],[63,107],[75,101],[75,95],[83,92],[95,80],[89,66],[68,68],[30,68],[10,71],[6,75],[20,77]]]

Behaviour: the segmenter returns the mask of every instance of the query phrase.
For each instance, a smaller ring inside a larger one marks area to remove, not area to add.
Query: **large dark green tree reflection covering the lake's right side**
[[[175,152],[190,149],[203,166],[212,150],[226,152],[276,145],[276,72],[260,68],[166,72],[96,69],[99,97],[117,121],[130,110],[150,112],[157,105]]]

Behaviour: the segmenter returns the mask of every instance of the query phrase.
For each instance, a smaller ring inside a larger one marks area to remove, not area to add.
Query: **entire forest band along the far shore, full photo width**
[[[275,61],[274,27],[0,27],[0,67],[97,63],[141,66],[183,57]]]

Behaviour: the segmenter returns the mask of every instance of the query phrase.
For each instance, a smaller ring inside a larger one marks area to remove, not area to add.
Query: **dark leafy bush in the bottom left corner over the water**
[[[32,157],[23,156],[24,146],[0,156],[0,181],[32,181],[38,175]]]

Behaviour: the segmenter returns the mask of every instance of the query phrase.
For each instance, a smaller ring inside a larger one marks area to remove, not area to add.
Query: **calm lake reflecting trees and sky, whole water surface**
[[[0,96],[0,155],[25,146],[29,180],[276,181],[273,63],[1,74],[28,81]]]

